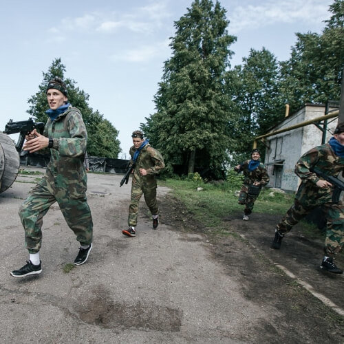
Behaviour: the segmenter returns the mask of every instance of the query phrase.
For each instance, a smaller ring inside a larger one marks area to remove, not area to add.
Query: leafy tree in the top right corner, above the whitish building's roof
[[[344,1],[330,6],[322,34],[297,33],[291,57],[281,63],[281,96],[297,111],[305,103],[339,100],[344,68]]]

